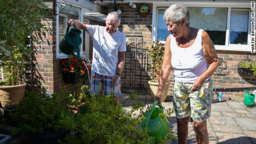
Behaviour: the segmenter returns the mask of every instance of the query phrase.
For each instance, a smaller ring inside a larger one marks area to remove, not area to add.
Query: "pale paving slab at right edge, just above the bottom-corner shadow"
[[[234,117],[234,120],[238,123],[238,125],[247,131],[256,131],[256,121],[253,118],[238,118]]]

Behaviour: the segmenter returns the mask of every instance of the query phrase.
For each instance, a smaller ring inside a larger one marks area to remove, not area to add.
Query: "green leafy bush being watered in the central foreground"
[[[75,117],[75,135],[66,137],[68,143],[147,143],[152,140],[140,126],[145,113],[142,102],[128,112],[121,104],[115,106],[115,99],[110,96],[94,97],[83,91],[85,86],[76,96],[83,104]],[[140,111],[139,116],[134,115],[136,110]]]

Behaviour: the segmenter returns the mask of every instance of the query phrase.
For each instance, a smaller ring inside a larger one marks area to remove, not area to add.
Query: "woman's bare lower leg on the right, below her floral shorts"
[[[193,122],[196,135],[196,143],[209,143],[209,136],[207,131],[207,121]]]

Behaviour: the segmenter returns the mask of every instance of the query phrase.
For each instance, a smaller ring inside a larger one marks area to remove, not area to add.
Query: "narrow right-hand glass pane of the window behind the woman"
[[[247,44],[248,11],[231,11],[230,44]]]

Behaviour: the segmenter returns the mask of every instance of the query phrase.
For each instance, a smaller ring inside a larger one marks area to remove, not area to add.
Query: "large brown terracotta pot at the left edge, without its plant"
[[[17,104],[25,95],[27,84],[16,86],[0,86],[0,101],[2,107]]]

